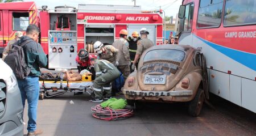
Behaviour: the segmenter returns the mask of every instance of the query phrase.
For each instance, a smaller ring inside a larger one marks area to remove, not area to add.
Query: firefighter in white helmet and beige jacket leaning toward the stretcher
[[[96,41],[93,44],[93,48],[97,52],[100,59],[105,59],[115,65],[115,59],[117,58],[118,49],[115,49],[112,45],[104,45],[100,41]]]

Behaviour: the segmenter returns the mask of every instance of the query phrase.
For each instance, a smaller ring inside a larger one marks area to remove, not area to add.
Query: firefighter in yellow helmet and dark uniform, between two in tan
[[[134,62],[134,58],[137,51],[137,42],[141,40],[141,37],[139,37],[139,33],[137,31],[134,31],[131,36],[127,38],[127,41],[129,42],[129,53],[131,58],[131,64]],[[135,66],[138,67],[138,63],[135,63]],[[134,70],[131,69],[130,65],[130,71],[133,73]]]

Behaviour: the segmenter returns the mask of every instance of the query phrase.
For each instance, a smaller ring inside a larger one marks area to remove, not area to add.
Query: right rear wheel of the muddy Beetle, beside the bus
[[[188,104],[188,113],[193,116],[199,116],[204,104],[204,91],[200,88],[197,90],[196,96]]]

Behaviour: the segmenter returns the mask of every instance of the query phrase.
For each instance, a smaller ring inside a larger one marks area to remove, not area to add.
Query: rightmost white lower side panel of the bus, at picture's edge
[[[242,79],[242,107],[256,113],[256,83],[253,80]]]

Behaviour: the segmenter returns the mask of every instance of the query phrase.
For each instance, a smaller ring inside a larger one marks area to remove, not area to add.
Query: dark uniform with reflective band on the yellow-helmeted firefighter
[[[137,52],[137,42],[138,40],[141,40],[141,37],[138,37],[136,41],[133,40],[133,37],[129,36],[127,38],[127,41],[129,42],[129,53],[130,53],[130,58],[131,58],[131,64],[133,64],[134,62],[134,58]],[[139,62],[139,61],[138,61]],[[135,63],[135,66],[138,67],[138,62]],[[130,71],[131,73],[134,71],[131,69],[131,65],[130,65]]]

